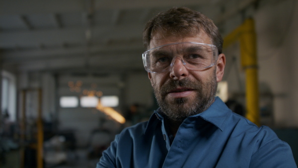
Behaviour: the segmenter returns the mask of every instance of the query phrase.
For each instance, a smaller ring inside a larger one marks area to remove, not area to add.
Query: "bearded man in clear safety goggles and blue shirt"
[[[296,168],[289,145],[215,97],[223,39],[197,11],[171,8],[147,23],[143,61],[159,109],[124,129],[97,168]]]

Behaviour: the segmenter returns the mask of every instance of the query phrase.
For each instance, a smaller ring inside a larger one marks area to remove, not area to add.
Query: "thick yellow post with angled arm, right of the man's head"
[[[253,19],[245,20],[227,35],[224,38],[224,47],[237,40],[240,41],[241,66],[246,75],[246,118],[260,126],[256,33]]]

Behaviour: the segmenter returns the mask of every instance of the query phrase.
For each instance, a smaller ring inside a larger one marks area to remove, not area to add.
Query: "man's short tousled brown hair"
[[[149,49],[150,41],[156,32],[167,35],[195,35],[204,30],[217,46],[223,50],[223,38],[213,21],[202,13],[187,7],[173,7],[158,13],[146,24],[143,32],[143,44]]]

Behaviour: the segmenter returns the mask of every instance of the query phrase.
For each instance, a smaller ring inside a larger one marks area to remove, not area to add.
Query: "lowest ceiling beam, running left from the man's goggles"
[[[135,57],[132,59],[132,57]],[[96,68],[106,72],[114,70],[144,70],[141,56],[132,56],[132,54],[114,54],[99,57],[68,57],[68,58],[48,58],[26,60],[24,62],[3,63],[3,68],[16,66],[19,71],[46,71],[59,69],[76,69],[83,71],[88,68]],[[145,71],[145,70],[144,70]]]

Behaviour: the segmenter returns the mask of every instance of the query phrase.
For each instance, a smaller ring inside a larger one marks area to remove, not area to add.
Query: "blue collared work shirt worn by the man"
[[[184,120],[171,145],[159,110],[117,135],[96,168],[297,168],[286,142],[218,97]]]

